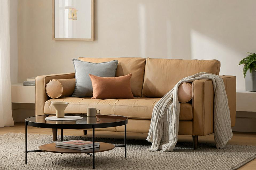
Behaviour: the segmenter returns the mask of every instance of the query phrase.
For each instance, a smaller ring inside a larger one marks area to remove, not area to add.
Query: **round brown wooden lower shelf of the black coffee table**
[[[104,143],[104,142],[99,142],[100,147],[95,148],[94,152],[104,152],[104,151],[109,151],[115,148],[115,145],[110,144],[110,143]],[[45,144],[41,145],[39,147],[39,150],[44,151],[44,152],[54,152],[54,153],[64,153],[64,154],[89,154],[92,153],[92,149],[86,149],[86,150],[74,150],[74,149],[66,149],[66,148],[58,148],[55,147],[55,143],[50,143],[50,144]]]

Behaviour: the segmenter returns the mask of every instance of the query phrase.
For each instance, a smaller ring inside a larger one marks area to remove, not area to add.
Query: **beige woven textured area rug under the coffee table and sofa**
[[[91,140],[88,137],[64,136],[64,140]],[[60,136],[58,136],[60,140]],[[97,138],[96,141],[119,143],[121,139]],[[200,141],[199,141],[200,142]],[[28,135],[28,150],[52,143],[51,135]],[[177,143],[174,152],[149,152],[150,143],[142,140],[127,140],[127,158],[124,148],[95,154],[96,169],[237,169],[256,157],[256,146],[227,145],[216,149],[213,144],[199,143],[193,150],[192,143]],[[0,135],[1,170],[74,170],[92,169],[92,157],[86,154],[57,154],[50,152],[28,153],[25,165],[25,134]]]

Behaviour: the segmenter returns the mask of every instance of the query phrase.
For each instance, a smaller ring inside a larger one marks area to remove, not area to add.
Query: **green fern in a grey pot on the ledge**
[[[250,54],[246,58],[239,61],[238,65],[243,64],[243,77],[245,78],[245,90],[256,92],[256,54]]]

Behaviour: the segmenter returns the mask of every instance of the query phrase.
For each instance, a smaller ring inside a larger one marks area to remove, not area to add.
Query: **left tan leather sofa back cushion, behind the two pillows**
[[[116,77],[124,76],[132,73],[131,89],[134,97],[141,97],[142,86],[144,80],[145,71],[145,58],[84,58],[79,57],[81,61],[87,61],[92,63],[102,63],[106,61],[118,60],[116,68]]]

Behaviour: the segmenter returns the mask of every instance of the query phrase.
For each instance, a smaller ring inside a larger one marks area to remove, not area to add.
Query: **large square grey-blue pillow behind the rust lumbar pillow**
[[[104,63],[90,63],[73,59],[76,73],[76,87],[72,97],[92,97],[92,81],[89,74],[100,77],[115,77],[117,60]]]

